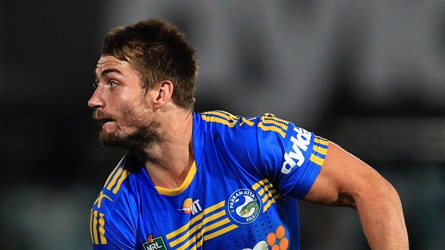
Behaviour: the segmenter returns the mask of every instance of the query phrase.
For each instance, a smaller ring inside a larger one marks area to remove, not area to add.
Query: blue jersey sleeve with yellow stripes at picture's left
[[[125,156],[110,174],[90,212],[93,249],[136,249],[137,214],[126,189]]]

